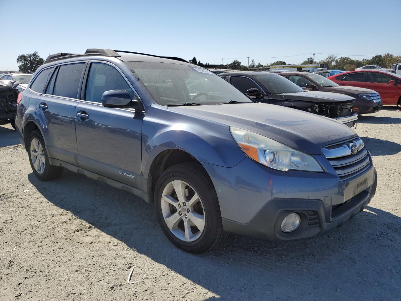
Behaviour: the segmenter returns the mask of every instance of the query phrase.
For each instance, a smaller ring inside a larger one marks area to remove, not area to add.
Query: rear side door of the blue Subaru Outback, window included
[[[79,87],[85,65],[85,61],[59,65],[45,92],[38,98],[36,109],[36,118],[45,120],[44,124],[47,126],[44,138],[49,157],[73,165],[77,165],[75,106],[79,102]]]

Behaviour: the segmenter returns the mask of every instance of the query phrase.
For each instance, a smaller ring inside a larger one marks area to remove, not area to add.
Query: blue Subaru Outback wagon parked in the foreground
[[[188,252],[206,252],[228,232],[314,237],[375,194],[371,155],[352,129],[253,103],[176,57],[57,53],[17,102],[36,177],[68,169],[130,191],[154,203],[164,234]]]

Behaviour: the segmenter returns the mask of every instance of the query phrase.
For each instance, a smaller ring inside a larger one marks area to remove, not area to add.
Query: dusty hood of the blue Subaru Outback
[[[272,104],[178,106],[168,110],[249,130],[313,155],[322,155],[327,144],[357,136],[330,118]]]

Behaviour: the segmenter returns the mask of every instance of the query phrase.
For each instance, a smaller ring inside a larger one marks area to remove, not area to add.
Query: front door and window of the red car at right
[[[366,87],[378,92],[383,104],[397,104],[399,88],[397,85],[389,84],[389,81],[394,79],[393,77],[379,72],[367,72],[366,74]]]

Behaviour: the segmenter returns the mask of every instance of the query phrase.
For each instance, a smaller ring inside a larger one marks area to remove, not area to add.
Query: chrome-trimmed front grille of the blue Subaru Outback
[[[356,144],[358,151],[352,155],[350,146]],[[363,173],[371,166],[368,151],[360,138],[325,146],[326,156],[341,181],[346,181]]]

